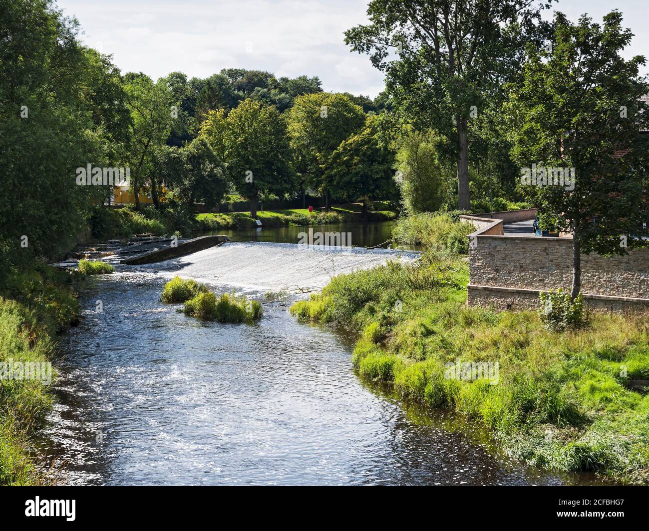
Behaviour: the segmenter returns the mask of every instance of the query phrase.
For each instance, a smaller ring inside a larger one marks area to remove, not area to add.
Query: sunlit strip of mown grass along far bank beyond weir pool
[[[397,212],[386,204],[375,203],[374,209],[367,213],[367,221],[389,221],[397,217]],[[361,222],[363,215],[361,205],[352,203],[332,207],[330,212],[313,211],[309,213],[306,208],[288,210],[266,210],[257,213],[257,219],[266,227],[280,227],[287,225],[324,225],[342,222]],[[219,214],[198,214],[196,216],[199,227],[204,230],[219,230],[229,228],[256,227],[254,219],[249,212],[229,212]]]

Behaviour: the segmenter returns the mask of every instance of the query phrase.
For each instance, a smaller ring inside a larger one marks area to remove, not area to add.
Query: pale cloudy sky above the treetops
[[[123,73],[153,78],[182,71],[208,77],[222,68],[317,76],[323,89],[375,97],[383,74],[350,52],[343,32],[367,22],[368,0],[58,0],[82,27],[82,41],[113,54]],[[635,38],[624,56],[649,58],[647,0],[560,0],[575,21],[617,8]],[[645,68],[643,74],[649,73]]]

